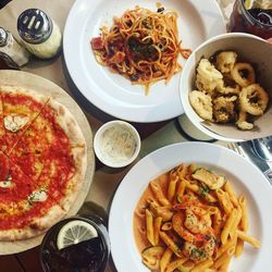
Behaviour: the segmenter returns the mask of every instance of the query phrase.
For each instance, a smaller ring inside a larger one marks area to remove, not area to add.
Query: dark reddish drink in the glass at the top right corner
[[[272,10],[245,10],[242,1],[236,0],[230,18],[228,30],[249,33],[269,39],[272,37]]]

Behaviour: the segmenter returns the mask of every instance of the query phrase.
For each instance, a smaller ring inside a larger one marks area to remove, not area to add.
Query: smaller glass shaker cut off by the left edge
[[[17,69],[29,60],[29,52],[23,48],[12,34],[0,27],[0,58],[10,67]]]

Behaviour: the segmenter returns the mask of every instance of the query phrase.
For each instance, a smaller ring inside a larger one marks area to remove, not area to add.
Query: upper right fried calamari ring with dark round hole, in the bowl
[[[235,63],[231,70],[231,75],[240,87],[247,87],[256,81],[254,67],[245,62]]]

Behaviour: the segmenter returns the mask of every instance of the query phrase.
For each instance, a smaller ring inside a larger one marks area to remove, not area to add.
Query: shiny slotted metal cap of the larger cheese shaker
[[[28,9],[17,18],[17,30],[21,38],[29,44],[41,44],[52,33],[51,18],[39,9]]]

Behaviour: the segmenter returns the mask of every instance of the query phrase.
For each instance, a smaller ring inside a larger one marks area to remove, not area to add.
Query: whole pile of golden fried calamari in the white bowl
[[[250,131],[254,118],[264,114],[269,106],[268,91],[256,82],[256,71],[248,62],[240,62],[234,51],[222,51],[201,59],[189,102],[203,120],[235,123],[242,131]]]

